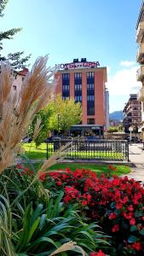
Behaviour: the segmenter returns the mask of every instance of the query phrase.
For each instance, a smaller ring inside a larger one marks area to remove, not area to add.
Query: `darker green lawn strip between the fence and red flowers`
[[[27,165],[26,165],[27,166]],[[32,166],[36,169],[39,170],[40,167],[42,166],[42,163],[40,164],[32,164]],[[107,174],[109,170],[109,165],[107,164],[83,164],[83,163],[59,163],[54,166],[51,166],[48,170],[65,170],[66,167],[69,167],[72,171],[75,171],[76,169],[87,169],[91,170],[93,172],[97,172],[98,175],[101,173]],[[126,175],[130,173],[130,166],[123,166],[123,165],[112,165],[116,167],[116,171],[112,171],[112,174],[116,174],[118,176],[120,175]]]

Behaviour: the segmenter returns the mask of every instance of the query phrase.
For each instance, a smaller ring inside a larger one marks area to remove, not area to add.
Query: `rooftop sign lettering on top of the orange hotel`
[[[74,69],[74,68],[90,68],[90,67],[100,67],[99,61],[85,61],[85,62],[72,62],[66,64],[55,65],[58,69]]]

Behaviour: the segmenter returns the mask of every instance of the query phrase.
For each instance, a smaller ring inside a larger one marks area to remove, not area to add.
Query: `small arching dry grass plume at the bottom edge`
[[[75,241],[68,241],[64,243],[62,246],[56,249],[54,253],[51,253],[49,256],[54,256],[55,254],[66,252],[66,251],[72,251],[74,249],[78,249],[78,251],[80,251],[82,255],[85,256],[84,250],[82,249],[82,247],[78,247]]]

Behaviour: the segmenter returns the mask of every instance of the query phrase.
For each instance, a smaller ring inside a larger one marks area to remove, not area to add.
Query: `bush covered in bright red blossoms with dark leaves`
[[[97,177],[95,172],[50,172],[55,189],[63,189],[66,204],[78,203],[92,221],[112,236],[110,255],[143,255],[144,189],[128,177]],[[94,255],[104,255],[101,254]],[[93,255],[93,254],[92,254]]]

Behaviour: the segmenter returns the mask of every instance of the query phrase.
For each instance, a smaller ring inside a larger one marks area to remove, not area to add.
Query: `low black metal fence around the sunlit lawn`
[[[129,143],[122,140],[54,140],[47,143],[47,159],[66,143],[66,160],[129,161]]]

